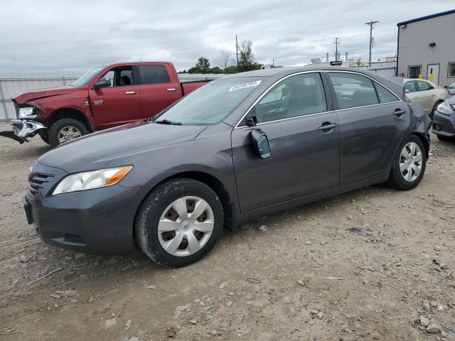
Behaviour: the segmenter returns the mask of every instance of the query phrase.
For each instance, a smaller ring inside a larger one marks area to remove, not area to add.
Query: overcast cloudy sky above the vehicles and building
[[[368,60],[395,55],[396,23],[455,8],[454,0],[36,1],[0,0],[0,74],[80,73],[120,61],[169,60],[188,69],[203,56],[252,40],[258,63],[296,66],[339,51]]]

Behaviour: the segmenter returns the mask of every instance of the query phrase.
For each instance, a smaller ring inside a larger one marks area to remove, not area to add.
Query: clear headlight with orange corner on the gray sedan
[[[70,174],[58,183],[58,186],[55,188],[52,195],[115,185],[122,180],[132,168],[133,166],[123,166]]]

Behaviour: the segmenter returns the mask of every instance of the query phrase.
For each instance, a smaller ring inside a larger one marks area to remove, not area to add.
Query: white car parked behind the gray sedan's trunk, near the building
[[[446,89],[438,87],[429,80],[405,78],[403,85],[407,98],[413,103],[422,104],[424,111],[432,119],[438,105],[450,96]]]

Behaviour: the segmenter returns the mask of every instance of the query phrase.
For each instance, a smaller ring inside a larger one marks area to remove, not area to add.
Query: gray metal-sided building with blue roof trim
[[[396,75],[445,86],[455,81],[455,9],[398,26]]]

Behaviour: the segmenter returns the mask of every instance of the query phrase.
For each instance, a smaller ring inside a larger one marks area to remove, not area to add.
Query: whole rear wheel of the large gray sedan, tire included
[[[412,146],[415,147],[414,156],[413,158],[410,158],[411,153],[409,151],[412,152]],[[420,161],[419,155],[421,156]],[[400,165],[402,166],[403,173],[400,170]],[[422,180],[426,166],[427,154],[424,144],[415,135],[407,136],[405,141],[400,144],[400,148],[397,149],[397,153],[395,153],[395,156],[393,157],[392,169],[390,170],[387,184],[396,190],[412,190],[419,185]],[[417,171],[419,171],[418,175]],[[407,180],[405,180],[405,178],[407,178]]]

